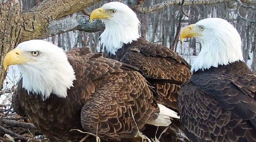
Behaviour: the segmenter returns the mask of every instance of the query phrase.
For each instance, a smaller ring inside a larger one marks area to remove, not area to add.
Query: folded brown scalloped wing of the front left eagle
[[[103,138],[129,138],[138,133],[156,112],[156,101],[148,87],[147,81],[128,65],[103,57],[90,58],[87,62],[91,72],[100,74],[108,71],[95,80],[97,86],[81,113],[84,129]],[[107,68],[104,68],[107,67]],[[104,70],[103,70],[104,69]],[[97,73],[100,72],[100,73]],[[88,75],[90,76],[90,75]],[[131,112],[132,111],[132,112]]]

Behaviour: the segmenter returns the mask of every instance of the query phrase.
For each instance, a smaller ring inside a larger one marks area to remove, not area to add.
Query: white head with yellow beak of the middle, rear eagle
[[[122,48],[123,44],[140,38],[140,21],[136,13],[126,4],[120,2],[104,4],[92,11],[90,19],[91,21],[101,19],[105,23],[106,29],[100,35],[100,45],[113,55],[116,55],[116,51]]]

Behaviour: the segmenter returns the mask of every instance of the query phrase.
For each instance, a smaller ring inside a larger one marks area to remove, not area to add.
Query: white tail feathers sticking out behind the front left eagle
[[[155,126],[169,126],[171,122],[171,118],[180,119],[177,113],[169,108],[166,108],[164,105],[159,104],[160,113],[159,116],[147,124],[155,125]]]

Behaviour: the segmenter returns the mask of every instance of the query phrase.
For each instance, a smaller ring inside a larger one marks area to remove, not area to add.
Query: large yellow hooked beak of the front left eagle
[[[28,57],[24,56],[19,48],[13,49],[10,52],[8,52],[4,57],[4,70],[6,70],[9,65],[23,64],[25,62],[36,62],[36,61],[31,60]]]

